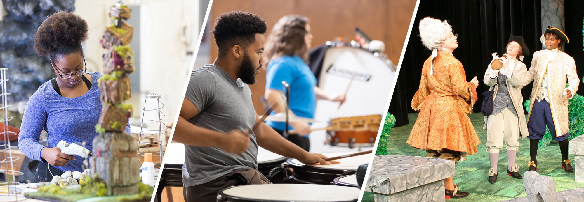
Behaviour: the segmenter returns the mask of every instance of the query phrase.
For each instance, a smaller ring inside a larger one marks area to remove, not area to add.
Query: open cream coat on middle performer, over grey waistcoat
[[[495,59],[489,63],[488,70],[485,72],[485,76],[483,77],[483,82],[486,84],[486,86],[490,86],[489,90],[493,90],[494,88],[495,93],[493,93],[493,101],[495,101],[497,91],[499,90],[499,85],[497,85],[497,78],[491,79],[491,75],[489,74],[493,69],[491,68],[493,61],[495,61]],[[533,77],[531,77],[529,72],[527,72],[526,65],[519,60],[515,61],[513,68],[513,75],[506,81],[507,91],[509,91],[511,101],[513,101],[513,107],[515,107],[515,111],[517,111],[517,116],[519,118],[519,131],[523,139],[524,137],[529,136],[529,131],[527,130],[527,121],[524,115],[525,113],[523,112],[523,95],[521,94],[521,89],[524,86],[527,86],[527,84],[531,83]],[[507,77],[506,75],[503,76]],[[485,126],[483,127],[484,129],[486,129],[486,122],[487,118],[485,117]]]

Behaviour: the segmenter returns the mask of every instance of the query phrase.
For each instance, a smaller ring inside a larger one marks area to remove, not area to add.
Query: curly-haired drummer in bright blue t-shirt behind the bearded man
[[[345,102],[345,95],[329,95],[316,86],[317,79],[307,65],[311,42],[308,18],[299,15],[282,17],[267,37],[266,56],[270,62],[267,65],[264,97],[270,106],[279,103],[279,107],[274,109],[272,115],[285,110],[285,101],[281,98],[284,92],[282,81],[290,84],[291,116],[314,118],[317,99],[339,101],[340,104]],[[280,134],[286,129],[284,122],[267,121],[266,124]],[[312,131],[310,125],[290,122],[290,126],[297,134],[291,134],[288,140],[308,151],[310,149],[308,134]]]

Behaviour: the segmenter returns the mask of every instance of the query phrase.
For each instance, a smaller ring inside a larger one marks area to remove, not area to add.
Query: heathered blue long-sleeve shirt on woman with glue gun
[[[85,148],[92,150],[93,139],[99,134],[95,132],[95,125],[98,124],[102,112],[98,78],[103,74],[89,74],[92,77],[92,86],[84,95],[62,97],[53,89],[51,82],[47,81],[29,98],[18,137],[18,146],[23,154],[33,160],[47,162],[40,155],[45,147],[39,143],[43,128],[48,133],[48,147],[56,147],[61,140],[67,143],[85,141]],[[124,132],[130,134],[129,122]],[[83,172],[81,165],[85,158],[78,155],[74,157],[75,161],[69,160],[67,165],[56,168],[61,171]]]

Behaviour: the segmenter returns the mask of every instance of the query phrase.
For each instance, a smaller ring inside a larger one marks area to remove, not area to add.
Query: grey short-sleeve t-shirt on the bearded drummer
[[[256,112],[249,86],[241,79],[233,80],[218,66],[207,64],[193,70],[185,97],[199,109],[199,114],[189,119],[196,126],[223,133],[253,128]],[[242,154],[227,153],[219,147],[185,145],[183,183],[195,186],[237,169],[258,169],[258,144],[253,132],[250,137],[248,150]]]

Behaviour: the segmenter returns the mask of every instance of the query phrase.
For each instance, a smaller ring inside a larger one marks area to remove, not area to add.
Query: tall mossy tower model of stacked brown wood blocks
[[[128,73],[134,72],[134,54],[128,46],[134,28],[121,22],[130,18],[131,9],[123,2],[110,8],[112,26],[106,27],[101,40],[103,70],[99,78],[102,114],[99,116],[93,139],[93,157],[90,173],[95,173],[106,185],[107,195],[137,194],[140,181],[140,158],[136,155],[138,140],[124,133],[132,106],[123,104],[130,98]]]

